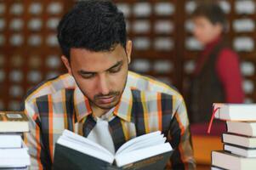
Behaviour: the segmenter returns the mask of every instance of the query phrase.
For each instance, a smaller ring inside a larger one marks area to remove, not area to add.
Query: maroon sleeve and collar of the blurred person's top
[[[221,41],[221,38],[216,38],[213,42],[206,45],[200,55],[194,74],[198,74],[205,61],[209,57],[209,53],[215,45]],[[230,48],[224,48],[219,53],[217,64],[215,65],[219,81],[223,83],[225,90],[226,103],[242,103],[244,101],[244,93],[242,91],[242,76],[239,66],[237,54]]]

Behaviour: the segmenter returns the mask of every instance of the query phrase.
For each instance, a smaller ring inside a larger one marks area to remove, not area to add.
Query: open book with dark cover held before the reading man
[[[54,169],[163,169],[172,154],[160,131],[130,139],[115,156],[100,144],[65,130],[55,145]]]

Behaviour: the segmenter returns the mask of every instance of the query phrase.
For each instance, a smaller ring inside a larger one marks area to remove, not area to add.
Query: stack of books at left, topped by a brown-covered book
[[[28,131],[24,112],[0,111],[0,169],[28,169],[30,156],[22,139]]]

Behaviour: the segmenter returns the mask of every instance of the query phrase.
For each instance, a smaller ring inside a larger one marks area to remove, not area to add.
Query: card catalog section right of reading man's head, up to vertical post
[[[130,69],[173,83],[174,1],[115,1],[127,19],[128,37],[133,41]]]

